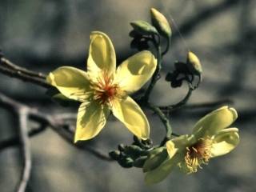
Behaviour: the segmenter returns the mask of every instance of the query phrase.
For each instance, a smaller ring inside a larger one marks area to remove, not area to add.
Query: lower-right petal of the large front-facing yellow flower
[[[150,125],[146,115],[130,97],[115,100],[113,114],[138,138],[147,139],[150,135]]]

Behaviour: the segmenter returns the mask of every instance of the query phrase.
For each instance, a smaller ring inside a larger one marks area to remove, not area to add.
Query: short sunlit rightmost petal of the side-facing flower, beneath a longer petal
[[[214,143],[211,150],[212,157],[230,153],[239,143],[237,128],[221,130],[214,135]]]

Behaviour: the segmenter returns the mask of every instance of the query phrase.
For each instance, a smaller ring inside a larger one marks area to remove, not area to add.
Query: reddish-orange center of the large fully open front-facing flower
[[[114,83],[113,76],[103,74],[97,78],[97,82],[93,82],[91,88],[94,90],[94,100],[100,104],[110,104],[119,94],[119,86]]]

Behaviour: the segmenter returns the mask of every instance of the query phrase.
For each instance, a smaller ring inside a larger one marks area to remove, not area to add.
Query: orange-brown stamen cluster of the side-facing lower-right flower
[[[207,164],[211,158],[212,140],[200,138],[194,145],[186,148],[185,162],[189,173],[198,171],[198,167],[202,168],[201,164]]]

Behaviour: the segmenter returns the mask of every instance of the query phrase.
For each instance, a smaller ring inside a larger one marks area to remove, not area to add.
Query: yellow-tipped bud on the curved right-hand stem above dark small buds
[[[190,73],[200,75],[202,74],[201,62],[194,53],[189,51],[187,53],[186,65],[188,66]]]

